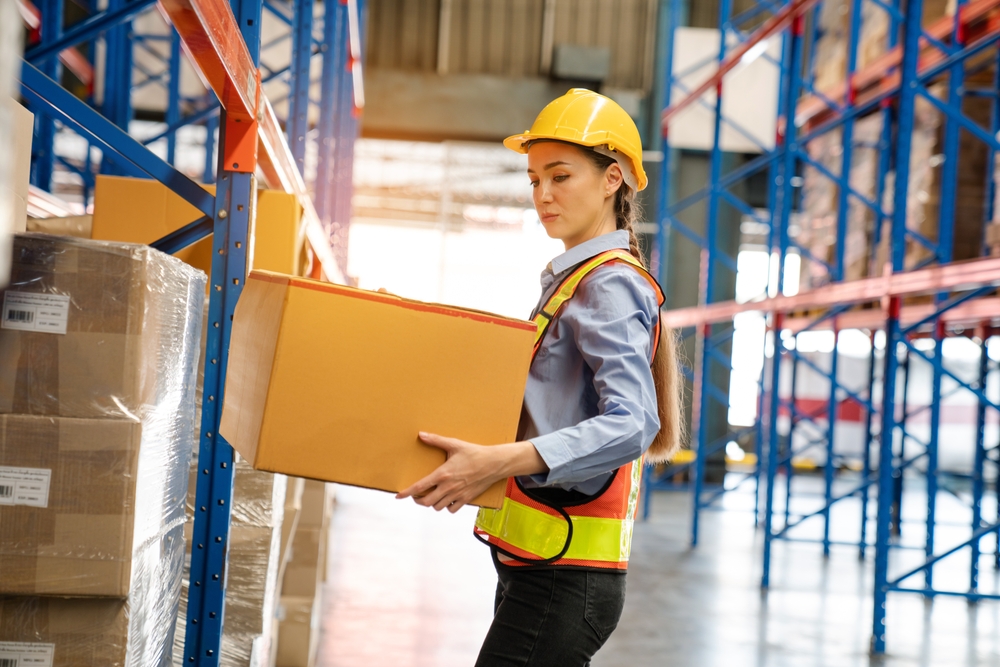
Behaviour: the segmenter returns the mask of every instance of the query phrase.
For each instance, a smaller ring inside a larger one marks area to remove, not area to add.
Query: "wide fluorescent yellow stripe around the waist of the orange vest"
[[[573,541],[563,558],[619,563],[628,560],[632,520],[571,516]],[[539,559],[558,554],[566,543],[566,520],[504,498],[499,510],[481,509],[476,526]],[[625,543],[625,536],[628,543]],[[623,547],[625,547],[623,549]]]

